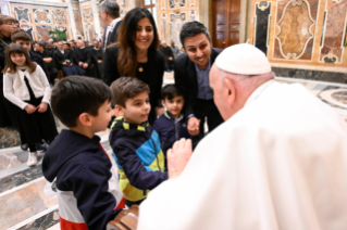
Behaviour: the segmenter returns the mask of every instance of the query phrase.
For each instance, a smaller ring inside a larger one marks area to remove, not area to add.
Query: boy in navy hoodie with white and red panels
[[[54,115],[63,129],[42,162],[45,178],[55,178],[61,229],[106,229],[122,212],[117,173],[95,133],[107,129],[112,93],[101,80],[72,76],[55,84]]]

